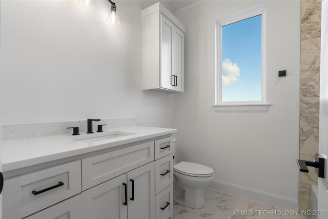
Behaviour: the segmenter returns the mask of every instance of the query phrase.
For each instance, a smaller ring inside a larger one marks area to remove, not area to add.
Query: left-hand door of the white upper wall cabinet
[[[160,15],[160,87],[174,90],[173,72],[174,24]]]

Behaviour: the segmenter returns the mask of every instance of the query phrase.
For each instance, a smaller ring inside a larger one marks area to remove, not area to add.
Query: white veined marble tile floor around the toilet
[[[302,215],[281,215],[284,210],[248,198],[205,189],[205,206],[192,209],[174,204],[174,219],[305,219]],[[247,215],[235,215],[235,211]],[[284,214],[295,214],[286,212]],[[270,215],[271,214],[271,215]],[[278,215],[275,215],[278,214]],[[280,215],[279,215],[280,214]]]

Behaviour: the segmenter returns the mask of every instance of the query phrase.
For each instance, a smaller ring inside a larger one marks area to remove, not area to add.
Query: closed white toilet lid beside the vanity
[[[201,164],[195,164],[191,162],[182,161],[176,165],[174,165],[174,171],[185,174],[185,175],[193,175],[193,176],[208,176],[213,175],[213,169]]]

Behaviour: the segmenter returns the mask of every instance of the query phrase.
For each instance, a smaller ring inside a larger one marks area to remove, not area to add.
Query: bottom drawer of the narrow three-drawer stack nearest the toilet
[[[155,196],[156,219],[168,219],[173,215],[173,184]]]

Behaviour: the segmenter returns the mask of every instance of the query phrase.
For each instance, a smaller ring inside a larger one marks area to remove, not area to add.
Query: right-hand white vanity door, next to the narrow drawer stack
[[[155,163],[128,172],[128,218],[155,218]]]

